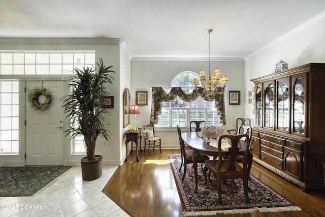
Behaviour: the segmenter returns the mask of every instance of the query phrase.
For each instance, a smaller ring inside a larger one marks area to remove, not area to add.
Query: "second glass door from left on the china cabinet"
[[[274,81],[264,83],[264,126],[274,129]]]

